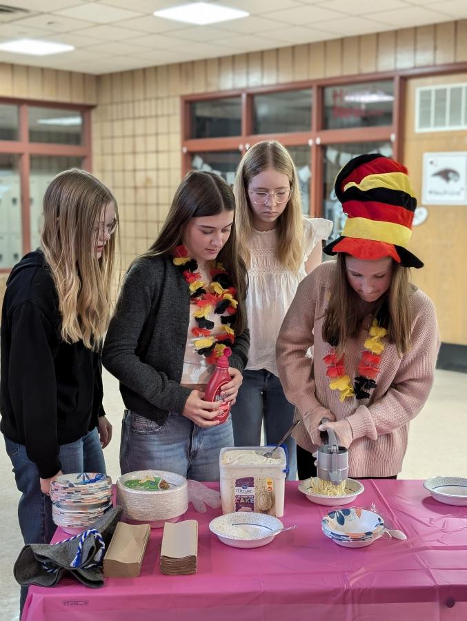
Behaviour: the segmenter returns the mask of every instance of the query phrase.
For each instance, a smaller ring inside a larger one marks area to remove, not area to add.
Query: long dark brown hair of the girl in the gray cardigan
[[[190,219],[217,215],[223,211],[235,212],[235,198],[228,183],[213,172],[199,170],[188,172],[177,188],[159,236],[142,256],[171,255],[181,244],[183,233]],[[226,268],[233,286],[237,289],[239,305],[235,331],[240,334],[246,328],[247,273],[244,261],[237,249],[235,226],[232,226],[226,244],[217,255],[217,261]]]

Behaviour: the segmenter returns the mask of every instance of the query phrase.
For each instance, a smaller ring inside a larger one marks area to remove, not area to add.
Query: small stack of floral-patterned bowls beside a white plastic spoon
[[[363,548],[383,535],[384,521],[377,513],[352,506],[330,511],[321,520],[321,529],[339,546]]]

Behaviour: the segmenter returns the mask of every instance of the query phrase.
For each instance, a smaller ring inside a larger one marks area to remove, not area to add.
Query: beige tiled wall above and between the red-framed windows
[[[93,172],[119,201],[125,268],[155,239],[181,178],[182,95],[465,62],[465,41],[467,20],[97,78],[3,64],[0,97],[97,105]]]

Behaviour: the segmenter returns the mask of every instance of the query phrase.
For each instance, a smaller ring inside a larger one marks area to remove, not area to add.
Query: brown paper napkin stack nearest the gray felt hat
[[[119,522],[103,560],[106,578],[136,578],[148,544],[149,524]]]

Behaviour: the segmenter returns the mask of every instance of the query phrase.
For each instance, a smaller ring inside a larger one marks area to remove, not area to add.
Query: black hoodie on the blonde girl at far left
[[[23,257],[8,277],[1,315],[0,430],[26,446],[39,476],[57,474],[59,445],[103,415],[99,353],[60,336],[57,290],[43,254]]]

